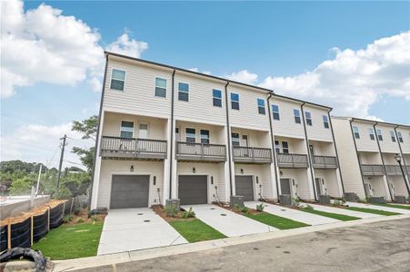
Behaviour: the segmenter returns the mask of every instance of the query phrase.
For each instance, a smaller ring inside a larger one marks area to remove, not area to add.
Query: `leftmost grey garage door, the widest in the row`
[[[110,209],[148,207],[149,176],[115,175]]]

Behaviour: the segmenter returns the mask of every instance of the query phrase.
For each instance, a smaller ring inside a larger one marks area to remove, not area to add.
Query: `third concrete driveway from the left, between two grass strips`
[[[256,205],[259,203],[265,204],[264,211],[267,213],[280,216],[285,219],[292,219],[295,221],[303,222],[305,224],[312,225],[312,226],[339,222],[339,220],[336,220],[336,219],[330,219],[330,218],[322,217],[319,215],[311,214],[305,211],[285,208],[283,206],[279,206],[275,204],[268,204],[265,202],[248,201],[248,202],[245,202],[245,206],[248,208],[255,209]]]

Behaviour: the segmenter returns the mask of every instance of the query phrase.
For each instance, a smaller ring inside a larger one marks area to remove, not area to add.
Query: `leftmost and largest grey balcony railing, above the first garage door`
[[[166,141],[103,136],[100,155],[103,158],[164,160]]]

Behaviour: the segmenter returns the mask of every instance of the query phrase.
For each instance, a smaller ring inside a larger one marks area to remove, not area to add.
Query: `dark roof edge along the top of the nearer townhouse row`
[[[140,58],[135,58],[135,57],[128,56],[128,55],[125,55],[125,54],[120,54],[120,53],[113,53],[113,52],[109,52],[109,51],[105,51],[104,53],[105,53],[105,55],[112,55],[112,56],[115,56],[115,57],[125,58],[125,59],[128,59],[128,60],[132,60],[132,61],[136,61],[136,62],[140,62],[140,63],[147,63],[147,64],[152,64],[152,65],[157,65],[157,66],[165,67],[165,68],[168,68],[168,69],[171,69],[171,70],[176,70],[176,71],[180,71],[180,72],[184,72],[184,73],[193,73],[193,74],[196,74],[196,75],[200,75],[200,76],[212,78],[212,79],[215,79],[215,80],[223,81],[224,83],[226,83],[226,82],[234,83],[234,84],[237,84],[237,85],[245,86],[247,88],[253,88],[253,89],[263,91],[263,92],[273,93],[274,96],[279,97],[279,98],[289,99],[289,100],[293,100],[295,102],[303,102],[305,104],[313,105],[313,106],[320,107],[320,108],[325,108],[325,109],[328,109],[330,111],[333,110],[333,108],[329,107],[329,106],[317,104],[317,103],[314,103],[314,102],[306,102],[306,101],[296,99],[296,98],[293,98],[293,97],[288,97],[288,96],[276,94],[274,92],[274,90],[271,90],[271,89],[266,89],[266,88],[263,88],[263,87],[259,87],[259,86],[255,86],[255,85],[251,85],[251,84],[246,84],[246,83],[239,83],[239,82],[236,82],[236,81],[233,81],[233,80],[230,80],[230,79],[226,79],[226,78],[211,75],[211,74],[199,73],[199,72],[187,70],[187,69],[184,69],[184,68],[175,67],[175,66],[172,66],[172,65],[164,64],[164,63],[155,63],[155,62],[147,61],[147,60],[140,59]]]

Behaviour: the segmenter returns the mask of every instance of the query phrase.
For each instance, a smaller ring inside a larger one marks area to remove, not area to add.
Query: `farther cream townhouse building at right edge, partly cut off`
[[[410,127],[332,117],[345,192],[359,198],[409,197]]]

